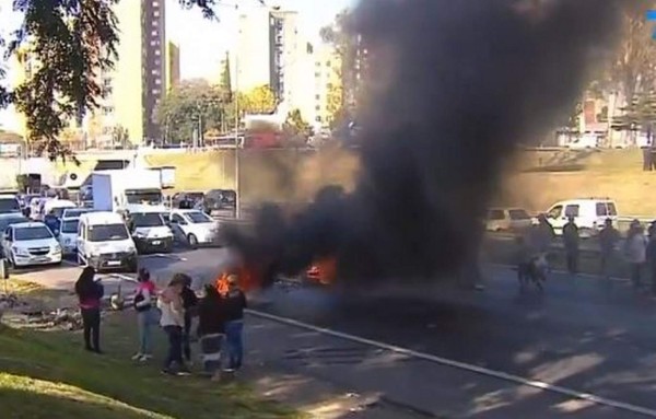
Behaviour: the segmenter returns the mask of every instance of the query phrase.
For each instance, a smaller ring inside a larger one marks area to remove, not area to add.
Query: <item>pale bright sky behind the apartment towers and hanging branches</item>
[[[140,0],[121,0],[140,1]],[[166,37],[180,48],[180,75],[183,79],[215,80],[221,71],[221,59],[234,48],[237,38],[237,13],[257,8],[258,0],[224,0],[216,7],[218,20],[202,18],[198,9],[184,10],[178,0],[166,0]],[[358,0],[265,0],[269,7],[280,5],[283,10],[298,12],[300,31],[309,42],[318,42],[319,28],[332,22],[335,15]],[[9,2],[7,2],[9,3]],[[22,22],[8,4],[0,4],[0,34],[9,37]],[[3,51],[0,49],[0,53]],[[2,60],[0,59],[0,65]],[[8,78],[12,69],[5,68]],[[11,129],[15,124],[12,109],[0,109],[0,128]]]

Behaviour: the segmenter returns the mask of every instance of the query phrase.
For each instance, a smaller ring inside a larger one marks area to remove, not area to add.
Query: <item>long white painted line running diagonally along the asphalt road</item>
[[[528,380],[528,379],[524,379],[524,377],[518,376],[518,375],[508,374],[508,373],[505,373],[505,372],[502,372],[502,371],[490,370],[490,369],[487,369],[487,368],[482,368],[482,366],[478,366],[478,365],[473,365],[473,364],[469,364],[469,363],[465,363],[465,362],[454,361],[454,360],[450,360],[450,359],[436,357],[436,356],[433,356],[433,354],[430,354],[430,353],[419,352],[419,351],[414,351],[412,349],[407,349],[407,348],[402,348],[402,347],[399,347],[399,346],[389,345],[389,344],[380,342],[380,341],[377,341],[377,340],[367,339],[367,338],[363,338],[363,337],[360,337],[360,336],[345,334],[343,331],[337,331],[337,330],[329,329],[329,328],[326,328],[326,327],[314,326],[314,325],[311,325],[308,323],[298,322],[298,321],[295,321],[293,318],[277,316],[274,314],[269,314],[269,313],[260,312],[260,311],[257,311],[257,310],[246,310],[246,312],[249,313],[249,314],[251,314],[251,315],[254,315],[254,316],[256,316],[256,317],[267,318],[267,319],[270,319],[270,321],[273,321],[273,322],[286,324],[286,325],[294,326],[294,327],[302,328],[302,329],[306,329],[306,330],[316,331],[316,333],[319,333],[319,334],[323,334],[323,335],[332,336],[332,337],[340,338],[340,339],[343,339],[343,340],[349,340],[349,341],[352,341],[352,342],[356,342],[356,344],[361,344],[361,345],[366,345],[366,346],[371,346],[371,347],[383,349],[383,350],[388,350],[390,352],[402,354],[402,356],[406,356],[406,357],[421,359],[421,360],[424,360],[424,361],[429,361],[429,362],[433,362],[433,363],[438,363],[438,364],[442,364],[442,365],[452,366],[452,368],[464,370],[464,371],[473,372],[473,373],[477,373],[477,374],[480,374],[480,375],[491,376],[491,377],[494,377],[494,379],[507,381],[507,382],[519,384],[519,385],[530,386],[530,387],[538,388],[538,389],[541,389],[541,391],[551,392],[551,393],[554,393],[554,394],[560,394],[560,395],[563,395],[563,396],[567,396],[567,397],[573,397],[573,398],[576,398],[576,399],[582,399],[582,400],[590,401],[590,403],[594,403],[594,404],[600,405],[600,406],[612,407],[612,408],[616,408],[616,409],[619,409],[619,410],[631,411],[631,412],[634,412],[634,414],[639,414],[639,415],[643,415],[643,416],[656,418],[656,410],[649,409],[649,408],[646,408],[646,407],[641,407],[641,406],[636,406],[636,405],[631,405],[629,403],[623,403],[623,401],[618,401],[618,400],[613,400],[613,399],[610,399],[610,398],[605,398],[605,397],[596,396],[596,395],[590,394],[590,393],[581,393],[581,392],[577,392],[577,391],[572,389],[572,388],[562,387],[560,385],[550,384],[550,383],[547,383],[547,382],[543,382],[543,381]]]

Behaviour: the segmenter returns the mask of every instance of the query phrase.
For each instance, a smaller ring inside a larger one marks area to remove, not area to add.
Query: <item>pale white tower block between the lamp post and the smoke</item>
[[[245,92],[269,85],[285,109],[306,102],[303,79],[308,44],[298,32],[298,13],[279,8],[255,8],[239,15],[236,86]]]

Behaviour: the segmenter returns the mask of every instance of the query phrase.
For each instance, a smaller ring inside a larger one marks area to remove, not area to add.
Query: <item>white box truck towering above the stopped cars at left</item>
[[[160,172],[124,168],[91,174],[93,209],[122,212],[129,205],[161,205]]]

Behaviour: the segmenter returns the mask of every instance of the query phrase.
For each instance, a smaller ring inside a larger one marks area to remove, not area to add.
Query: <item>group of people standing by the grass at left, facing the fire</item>
[[[85,267],[75,282],[75,293],[82,314],[85,349],[102,353],[99,328],[104,287],[94,277],[94,268]],[[175,273],[164,289],[157,290],[150,272],[140,269],[132,303],[137,313],[139,349],[132,359],[144,362],[152,358],[152,333],[160,326],[168,344],[163,373],[180,375],[190,372],[194,336],[198,337],[206,375],[218,377],[221,372],[239,370],[247,302],[238,282],[237,275],[225,275],[218,283],[206,284],[199,296],[191,289],[191,278],[185,273]]]

